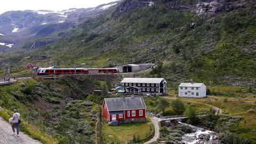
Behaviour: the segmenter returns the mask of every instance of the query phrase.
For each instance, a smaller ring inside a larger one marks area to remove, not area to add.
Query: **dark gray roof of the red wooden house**
[[[146,109],[142,97],[106,98],[108,111]]]

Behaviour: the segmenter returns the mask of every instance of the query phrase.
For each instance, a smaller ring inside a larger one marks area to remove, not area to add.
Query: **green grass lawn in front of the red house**
[[[119,143],[127,143],[132,140],[133,135],[140,135],[140,139],[145,139],[147,133],[153,133],[154,125],[146,123],[130,123],[121,124],[119,126],[108,126],[106,121],[103,121],[102,132],[106,141],[113,141]],[[150,131],[151,127],[151,131]]]

